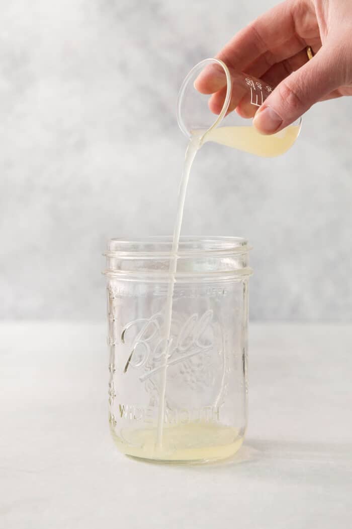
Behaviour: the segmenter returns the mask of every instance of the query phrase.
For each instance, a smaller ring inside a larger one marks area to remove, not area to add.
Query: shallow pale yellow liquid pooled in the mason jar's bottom
[[[156,428],[122,428],[119,437],[111,426],[118,449],[127,455],[159,461],[199,461],[229,458],[240,449],[244,428],[208,423],[164,426],[163,444],[156,444]]]

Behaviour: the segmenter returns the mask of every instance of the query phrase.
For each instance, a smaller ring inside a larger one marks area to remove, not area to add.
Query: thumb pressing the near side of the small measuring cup
[[[296,121],[319,99],[340,86],[338,52],[321,48],[310,61],[281,81],[256,112],[253,125],[273,134]]]

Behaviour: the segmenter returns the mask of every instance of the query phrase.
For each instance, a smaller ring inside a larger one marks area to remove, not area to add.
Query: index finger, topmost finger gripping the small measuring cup
[[[275,57],[270,50],[284,45],[292,37],[297,38],[299,51],[302,42],[296,34],[293,9],[292,0],[273,7],[236,33],[216,58],[238,72],[244,71],[261,56],[265,56],[264,60],[269,69],[275,63]],[[208,66],[196,79],[194,86],[202,94],[213,94],[226,85],[225,74],[213,74],[212,66]]]

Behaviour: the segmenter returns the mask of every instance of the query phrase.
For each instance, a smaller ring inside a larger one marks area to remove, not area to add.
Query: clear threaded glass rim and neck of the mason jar
[[[106,277],[124,281],[169,283],[170,265],[177,261],[174,280],[228,281],[252,275],[248,266],[248,242],[230,236],[182,236],[177,252],[172,237],[110,239]]]

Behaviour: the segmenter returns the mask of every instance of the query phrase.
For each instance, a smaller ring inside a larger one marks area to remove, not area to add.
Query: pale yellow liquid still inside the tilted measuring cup
[[[276,134],[264,136],[253,125],[217,127],[208,132],[203,142],[215,141],[239,151],[250,152],[257,156],[273,157],[286,152],[296,141],[300,125],[291,125]],[[197,134],[203,131],[196,131]],[[206,132],[206,131],[204,131]]]

